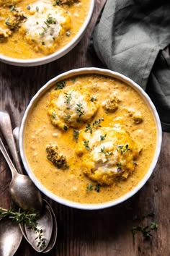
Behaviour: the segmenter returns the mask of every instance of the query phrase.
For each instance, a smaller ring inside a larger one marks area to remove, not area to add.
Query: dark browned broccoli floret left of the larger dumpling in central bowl
[[[47,145],[46,147],[47,158],[51,161],[56,167],[59,169],[68,168],[66,162],[66,156],[58,154],[58,146],[57,145]]]

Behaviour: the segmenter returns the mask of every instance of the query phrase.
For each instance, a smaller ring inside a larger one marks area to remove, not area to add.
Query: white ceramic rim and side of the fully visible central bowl
[[[134,187],[130,192],[123,195],[122,197],[117,198],[116,200],[110,201],[110,202],[104,202],[100,204],[81,204],[79,202],[72,202],[66,199],[63,199],[61,197],[58,197],[54,195],[52,192],[50,192],[48,189],[46,189],[39,180],[35,177],[35,175],[32,173],[32,170],[29,168],[29,165],[27,163],[27,158],[24,154],[24,143],[23,143],[23,137],[24,137],[24,127],[27,121],[27,116],[29,116],[30,111],[32,111],[32,108],[34,108],[35,104],[37,103],[38,99],[41,97],[45,91],[49,90],[51,86],[54,85],[54,82],[57,80],[66,80],[68,77],[75,77],[78,74],[104,74],[109,77],[117,78],[118,80],[121,80],[122,82],[125,82],[126,84],[130,85],[133,89],[135,89],[140,96],[143,98],[143,100],[148,105],[148,108],[150,108],[151,113],[153,114],[153,119],[156,122],[156,130],[157,130],[157,137],[156,137],[156,150],[155,154],[153,156],[153,160],[151,162],[150,168],[148,168],[148,171],[146,175],[143,177],[143,179],[138,183],[136,187]],[[102,208],[108,208],[113,205],[117,205],[120,202],[123,202],[125,200],[128,200],[128,198],[135,195],[136,192],[138,192],[141,187],[148,181],[149,177],[151,176],[153,169],[156,166],[156,163],[158,161],[158,156],[161,150],[161,139],[162,139],[162,132],[161,132],[161,123],[160,119],[158,117],[158,113],[156,111],[155,106],[153,105],[151,99],[148,97],[148,95],[144,92],[142,88],[140,88],[139,85],[137,85],[133,80],[130,80],[128,77],[125,77],[124,75],[112,72],[108,69],[98,69],[98,68],[81,68],[81,69],[73,69],[71,71],[65,72],[63,74],[58,75],[57,77],[53,78],[49,82],[47,82],[32,98],[30,101],[29,106],[27,106],[27,109],[24,113],[24,117],[22,119],[21,129],[20,129],[20,135],[19,135],[19,148],[22,156],[22,161],[24,163],[24,168],[27,171],[27,174],[30,176],[30,179],[32,179],[32,182],[35,183],[35,185],[40,189],[45,195],[50,197],[51,199],[55,200],[56,202],[60,202],[63,205],[68,205],[73,208],[79,208],[79,209],[86,209],[86,210],[97,210]]]

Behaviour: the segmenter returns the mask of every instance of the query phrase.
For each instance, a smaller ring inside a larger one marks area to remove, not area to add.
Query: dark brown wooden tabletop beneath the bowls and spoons
[[[42,85],[61,72],[79,67],[102,67],[89,47],[91,32],[102,9],[104,0],[97,0],[94,16],[81,42],[66,56],[40,67],[13,67],[0,62],[0,108],[9,111],[12,125],[20,124],[27,104]],[[170,255],[170,134],[163,134],[163,144],[153,175],[137,195],[130,200],[104,210],[77,210],[48,201],[55,210],[58,221],[58,239],[49,256],[136,256]],[[11,174],[0,154],[0,206],[9,208],[9,182]],[[135,216],[148,215],[134,221]],[[149,241],[141,232],[133,239],[133,226],[158,223]],[[22,239],[16,256],[44,255],[35,252]],[[1,255],[0,255],[1,256]]]

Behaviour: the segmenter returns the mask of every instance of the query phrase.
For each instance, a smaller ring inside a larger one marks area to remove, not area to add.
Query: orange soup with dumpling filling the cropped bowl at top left
[[[34,59],[73,40],[89,12],[90,0],[0,0],[0,54]]]

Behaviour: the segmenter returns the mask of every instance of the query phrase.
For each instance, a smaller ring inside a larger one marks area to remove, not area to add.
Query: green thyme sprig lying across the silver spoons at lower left
[[[37,234],[37,247],[42,249],[45,247],[46,239],[43,237],[43,230],[37,228],[39,216],[36,213],[14,212],[13,210],[5,210],[0,208],[0,218],[11,218],[17,223],[24,223],[29,229],[32,229]]]

